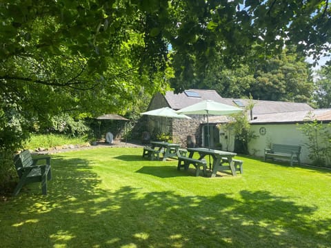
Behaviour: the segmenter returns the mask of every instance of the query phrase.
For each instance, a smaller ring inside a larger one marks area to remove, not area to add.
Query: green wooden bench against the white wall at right
[[[290,161],[290,165],[293,165],[293,161],[297,161],[300,165],[300,152],[301,146],[299,145],[281,145],[272,144],[272,148],[264,149],[264,161],[268,158],[284,158]]]

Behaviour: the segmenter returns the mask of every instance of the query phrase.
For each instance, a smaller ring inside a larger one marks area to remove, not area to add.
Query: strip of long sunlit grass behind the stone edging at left
[[[24,145],[25,149],[37,149],[38,147],[50,148],[61,145],[83,145],[88,142],[86,137],[72,138],[62,134],[32,134]]]

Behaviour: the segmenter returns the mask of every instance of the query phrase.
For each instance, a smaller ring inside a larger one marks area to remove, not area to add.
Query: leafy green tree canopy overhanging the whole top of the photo
[[[170,75],[179,92],[216,63],[265,59],[290,44],[317,58],[331,40],[328,1],[5,0],[0,23],[9,152],[32,121],[122,114],[141,92],[166,90]]]

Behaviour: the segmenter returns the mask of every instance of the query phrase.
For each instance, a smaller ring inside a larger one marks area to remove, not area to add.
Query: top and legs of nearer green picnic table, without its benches
[[[215,177],[218,171],[230,170],[232,176],[237,176],[236,169],[234,167],[234,162],[232,158],[237,154],[234,152],[224,152],[217,149],[208,149],[205,147],[196,147],[196,148],[188,148],[188,152],[190,152],[189,157],[192,158],[195,152],[199,153],[199,160],[203,159],[205,156],[212,156],[212,176]],[[222,165],[222,158],[226,158],[228,160],[229,165]]]

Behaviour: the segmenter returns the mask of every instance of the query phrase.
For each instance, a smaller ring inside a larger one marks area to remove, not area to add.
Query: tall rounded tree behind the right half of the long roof
[[[296,54],[284,50],[254,68],[255,80],[248,89],[254,99],[295,102],[312,99],[313,83],[308,63]]]

